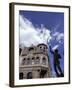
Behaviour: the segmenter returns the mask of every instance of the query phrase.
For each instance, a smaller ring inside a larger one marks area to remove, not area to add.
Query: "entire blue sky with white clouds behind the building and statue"
[[[45,43],[53,50],[57,48],[62,57],[61,68],[64,69],[64,13],[20,11],[19,27],[21,47]],[[49,57],[52,73],[55,75],[50,52]]]

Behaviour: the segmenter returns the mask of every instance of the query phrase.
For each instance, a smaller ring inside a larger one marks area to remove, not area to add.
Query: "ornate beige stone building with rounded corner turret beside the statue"
[[[20,49],[19,79],[51,77],[48,47],[45,44]]]

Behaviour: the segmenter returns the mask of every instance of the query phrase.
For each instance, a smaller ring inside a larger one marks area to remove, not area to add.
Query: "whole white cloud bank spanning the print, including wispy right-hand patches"
[[[64,38],[63,33],[56,32],[59,25],[56,26],[55,32],[52,33],[51,30],[47,29],[43,24],[41,27],[35,27],[33,23],[20,15],[19,28],[20,28],[20,46],[29,47],[31,45],[37,45],[40,43],[50,44],[54,39],[58,42],[53,46],[53,50],[59,47]],[[52,33],[52,34],[51,34]]]

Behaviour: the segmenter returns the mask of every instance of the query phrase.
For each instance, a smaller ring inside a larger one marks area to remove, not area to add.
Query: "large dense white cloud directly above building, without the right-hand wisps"
[[[47,44],[47,39],[48,42],[51,39],[50,30],[44,26],[35,28],[31,21],[20,15],[20,45],[28,47],[32,44]]]

